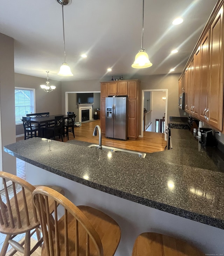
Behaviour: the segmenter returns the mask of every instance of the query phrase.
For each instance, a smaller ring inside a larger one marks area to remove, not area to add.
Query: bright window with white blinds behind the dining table
[[[29,113],[35,113],[35,89],[15,87],[15,123]]]

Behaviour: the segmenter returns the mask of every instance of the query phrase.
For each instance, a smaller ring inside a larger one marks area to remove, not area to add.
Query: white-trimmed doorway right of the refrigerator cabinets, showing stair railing
[[[147,115],[147,131],[163,131],[167,125],[168,89],[142,90],[141,136],[144,137],[144,116]],[[159,113],[160,112],[160,113]],[[146,114],[147,113],[147,114]],[[162,115],[162,116],[161,116]],[[163,120],[164,117],[164,120]],[[158,120],[159,119],[159,122]],[[165,122],[163,125],[162,122]],[[163,127],[162,127],[162,125]],[[157,125],[157,126],[156,126]],[[156,129],[157,127],[157,129]],[[166,140],[166,136],[164,135]]]

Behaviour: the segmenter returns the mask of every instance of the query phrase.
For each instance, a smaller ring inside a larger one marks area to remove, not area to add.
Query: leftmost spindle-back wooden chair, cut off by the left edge
[[[35,186],[7,172],[0,172],[0,178],[2,178],[5,191],[5,196],[2,193],[0,196],[0,233],[6,234],[0,256],[6,255],[9,244],[13,248],[10,250],[10,255],[19,251],[25,256],[29,256],[43,242],[40,221],[32,203],[32,192]],[[12,182],[12,188],[10,188],[11,186],[7,187],[6,181]],[[58,193],[64,194],[62,188],[50,187],[56,189]],[[49,208],[49,212],[52,214],[54,212],[53,201],[50,202]],[[51,220],[53,221],[52,215]],[[30,248],[30,237],[35,232],[38,241],[33,248]],[[16,236],[23,233],[25,233],[25,240],[21,243],[16,242]]]

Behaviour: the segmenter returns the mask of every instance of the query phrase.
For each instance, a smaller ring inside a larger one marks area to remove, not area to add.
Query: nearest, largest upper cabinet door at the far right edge
[[[223,130],[223,6],[211,25],[207,122]]]

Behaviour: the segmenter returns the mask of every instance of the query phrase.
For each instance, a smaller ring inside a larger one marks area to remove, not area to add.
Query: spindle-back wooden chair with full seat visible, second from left
[[[49,219],[50,199],[55,202],[54,224]],[[43,231],[41,255],[112,256],[116,252],[120,227],[105,213],[89,206],[75,206],[65,196],[47,187],[36,188],[33,201]],[[58,208],[57,203],[60,204]],[[57,217],[59,209],[64,214],[61,218]]]

